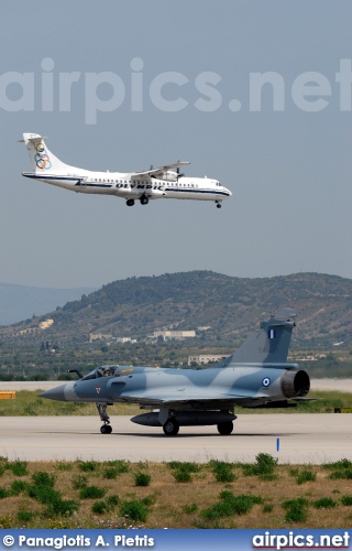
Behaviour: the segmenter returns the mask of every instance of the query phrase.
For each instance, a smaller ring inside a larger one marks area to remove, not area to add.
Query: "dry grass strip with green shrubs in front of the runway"
[[[258,454],[260,456],[260,454]],[[348,460],[337,465],[315,466],[316,480],[297,485],[309,466],[277,465],[264,454],[253,465],[217,462],[102,462],[94,471],[81,471],[81,461],[70,468],[59,462],[28,463],[28,474],[15,475],[6,466],[1,476],[0,528],[345,528],[352,516],[352,495],[344,478]],[[275,484],[257,467],[272,465]],[[232,482],[217,479],[217,469],[234,475]],[[255,467],[249,474],[250,467]],[[122,468],[109,479],[109,468]],[[147,469],[147,471],[146,471]],[[188,477],[175,483],[175,474]],[[136,485],[140,475],[148,485]],[[293,476],[293,474],[295,476]],[[94,488],[94,489],[92,489]]]

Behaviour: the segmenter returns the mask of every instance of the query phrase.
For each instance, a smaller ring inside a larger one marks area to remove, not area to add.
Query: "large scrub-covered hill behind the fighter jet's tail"
[[[298,314],[294,346],[331,348],[342,341],[350,345],[352,280],[320,273],[249,279],[211,271],[114,281],[46,316],[0,328],[0,338],[81,342],[89,333],[144,338],[162,328],[210,326],[197,333],[237,346],[261,317],[283,305]],[[54,324],[36,331],[46,317]]]

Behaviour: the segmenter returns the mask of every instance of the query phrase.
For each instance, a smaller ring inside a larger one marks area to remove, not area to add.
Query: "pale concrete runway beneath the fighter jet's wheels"
[[[352,414],[289,413],[241,415],[230,436],[216,426],[180,428],[178,436],[112,417],[112,434],[100,434],[97,417],[9,417],[0,423],[0,455],[9,460],[128,460],[131,462],[212,458],[253,462],[270,453],[279,463],[352,461]],[[279,439],[279,451],[276,451]]]

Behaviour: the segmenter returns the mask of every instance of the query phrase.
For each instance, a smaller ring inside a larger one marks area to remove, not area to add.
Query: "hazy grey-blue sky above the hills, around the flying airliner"
[[[1,23],[0,281],[352,278],[350,0],[11,0]],[[74,194],[21,176],[22,132],[91,170],[187,160],[233,195]]]

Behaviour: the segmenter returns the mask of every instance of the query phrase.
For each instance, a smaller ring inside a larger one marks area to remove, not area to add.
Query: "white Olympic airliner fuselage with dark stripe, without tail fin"
[[[65,174],[29,173],[24,176],[57,185],[76,193],[116,195],[125,199],[154,198],[200,199],[220,202],[231,192],[217,180],[207,177],[176,177],[174,181],[154,176],[134,176],[122,172],[90,172],[78,169]]]

